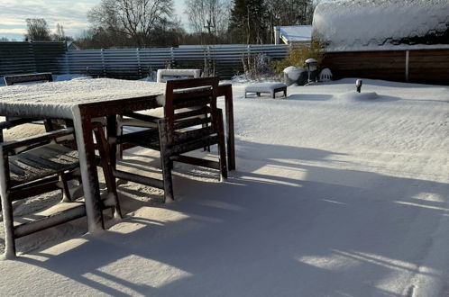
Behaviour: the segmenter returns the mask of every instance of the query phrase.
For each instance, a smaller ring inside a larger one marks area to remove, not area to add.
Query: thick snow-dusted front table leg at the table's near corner
[[[96,155],[92,136],[93,127],[88,112],[75,111],[74,126],[77,135],[79,166],[83,182],[88,231],[89,233],[96,233],[101,229],[105,229],[105,224],[101,211],[100,187],[96,172]]]

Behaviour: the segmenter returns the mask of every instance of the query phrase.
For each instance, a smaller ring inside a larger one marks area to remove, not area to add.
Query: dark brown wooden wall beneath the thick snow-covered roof
[[[449,85],[449,49],[328,52],[322,67],[330,68],[334,79]]]

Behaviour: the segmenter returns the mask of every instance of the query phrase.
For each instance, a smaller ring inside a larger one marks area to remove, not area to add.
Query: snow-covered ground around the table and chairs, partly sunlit
[[[449,88],[364,80],[356,94],[354,82],[282,100],[235,84],[225,183],[180,166],[170,204],[121,184],[124,220],[19,240],[1,295],[447,296]]]

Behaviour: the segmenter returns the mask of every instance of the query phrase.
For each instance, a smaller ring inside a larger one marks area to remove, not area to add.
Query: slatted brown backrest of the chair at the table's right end
[[[167,82],[164,114],[170,139],[177,142],[216,133],[217,89],[218,77]]]

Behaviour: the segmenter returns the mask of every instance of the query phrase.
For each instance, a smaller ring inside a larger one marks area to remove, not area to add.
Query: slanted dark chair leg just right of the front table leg
[[[115,184],[115,177],[112,171],[112,166],[109,157],[109,147],[105,138],[105,132],[103,127],[96,127],[94,129],[96,136],[96,143],[98,144],[98,151],[100,153],[100,162],[103,167],[103,174],[105,175],[105,183],[107,186],[107,192],[113,195],[115,200],[115,213],[119,218],[122,218],[122,210],[120,209],[120,202],[118,201],[117,188]],[[109,199],[109,197],[108,197]]]

